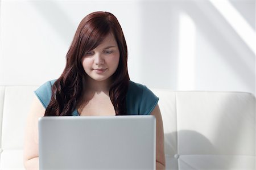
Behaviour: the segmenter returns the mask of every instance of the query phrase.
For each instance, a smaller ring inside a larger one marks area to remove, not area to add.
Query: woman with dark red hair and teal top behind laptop
[[[156,117],[156,169],[164,169],[164,134],[158,97],[146,86],[130,81],[125,37],[113,14],[99,11],[82,19],[60,78],[40,86],[35,95],[24,141],[26,169],[39,168],[39,117],[127,114]]]

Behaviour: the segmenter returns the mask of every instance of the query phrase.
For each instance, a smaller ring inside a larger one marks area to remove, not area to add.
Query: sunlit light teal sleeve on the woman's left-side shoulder
[[[55,80],[48,81],[34,91],[44,108],[47,108],[52,97],[52,84]]]

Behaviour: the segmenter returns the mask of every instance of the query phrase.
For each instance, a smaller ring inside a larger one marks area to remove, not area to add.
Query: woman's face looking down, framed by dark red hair
[[[115,73],[119,63],[119,49],[112,33],[96,48],[82,57],[85,73],[97,81],[108,80]]]

